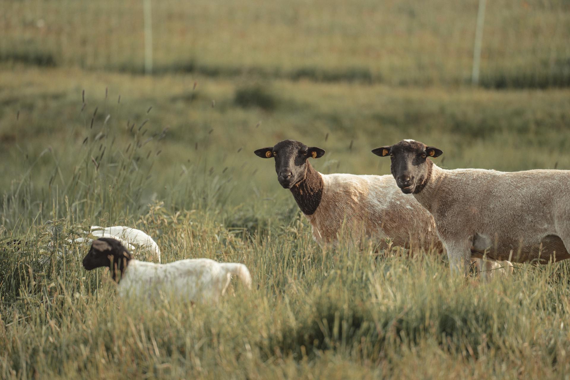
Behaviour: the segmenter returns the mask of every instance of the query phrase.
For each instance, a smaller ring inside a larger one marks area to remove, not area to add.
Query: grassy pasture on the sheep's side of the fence
[[[414,136],[446,167],[568,169],[567,90],[14,65],[0,82],[2,377],[536,378],[570,366],[568,264],[485,284],[451,278],[434,252],[323,251],[253,154],[292,137],[327,150],[314,162],[324,173],[385,174],[369,150]],[[85,248],[63,261],[47,248],[90,224],[142,228],[165,262],[241,261],[256,289],[236,283],[219,307],[121,303],[104,271],[81,267]]]

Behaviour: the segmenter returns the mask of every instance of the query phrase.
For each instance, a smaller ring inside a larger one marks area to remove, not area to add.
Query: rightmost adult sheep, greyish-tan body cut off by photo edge
[[[427,160],[441,150],[414,140],[372,153],[391,157],[402,193],[433,215],[452,272],[483,256],[517,263],[570,258],[570,171],[446,170]]]

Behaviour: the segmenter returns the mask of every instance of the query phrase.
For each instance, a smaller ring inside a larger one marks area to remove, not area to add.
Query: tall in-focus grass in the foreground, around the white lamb
[[[157,227],[151,214],[142,219]],[[321,251],[295,224],[254,240],[191,216],[161,227],[165,260],[242,261],[255,289],[236,285],[217,307],[168,294],[145,305],[117,299],[104,271],[84,271],[83,247],[44,267],[34,248],[7,248],[0,267],[14,273],[2,281],[2,377],[309,378],[336,362],[399,378],[410,367],[433,373],[444,359],[462,363],[446,377],[568,369],[566,264],[520,265],[510,279],[481,283],[450,277],[431,252],[410,260],[343,245]],[[434,362],[415,350],[430,350]]]

